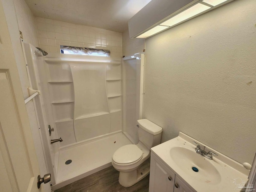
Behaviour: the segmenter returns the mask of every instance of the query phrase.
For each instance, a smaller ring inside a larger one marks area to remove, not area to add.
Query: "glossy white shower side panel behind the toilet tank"
[[[122,60],[123,132],[134,144],[139,142],[137,120],[142,118],[144,54]]]

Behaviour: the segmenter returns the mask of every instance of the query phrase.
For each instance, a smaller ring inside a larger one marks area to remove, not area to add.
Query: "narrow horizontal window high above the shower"
[[[60,52],[62,54],[102,56],[102,57],[110,56],[110,50],[84,48],[84,47],[72,47],[72,46],[63,46],[63,45],[60,46]]]

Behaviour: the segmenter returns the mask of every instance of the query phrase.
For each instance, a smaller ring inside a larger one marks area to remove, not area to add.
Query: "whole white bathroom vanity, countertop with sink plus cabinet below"
[[[249,172],[242,164],[180,132],[178,137],[151,148],[149,192],[235,192],[248,181]]]

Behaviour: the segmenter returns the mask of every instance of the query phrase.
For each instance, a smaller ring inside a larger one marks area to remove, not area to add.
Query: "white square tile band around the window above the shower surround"
[[[96,27],[36,17],[40,48],[60,53],[60,45],[108,49],[122,57],[122,33]]]

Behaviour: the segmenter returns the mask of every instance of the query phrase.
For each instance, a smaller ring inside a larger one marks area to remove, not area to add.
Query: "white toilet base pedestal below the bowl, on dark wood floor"
[[[137,169],[132,171],[120,172],[118,181],[124,187],[130,187],[142,180],[149,174],[150,158],[144,161]]]

